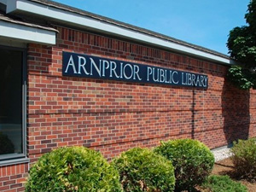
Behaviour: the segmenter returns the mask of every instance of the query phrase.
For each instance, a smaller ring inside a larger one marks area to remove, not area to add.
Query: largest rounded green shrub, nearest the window
[[[83,147],[58,148],[32,166],[26,192],[118,192],[118,172],[102,154]]]

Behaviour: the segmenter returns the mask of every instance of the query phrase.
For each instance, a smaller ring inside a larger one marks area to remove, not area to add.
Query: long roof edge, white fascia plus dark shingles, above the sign
[[[228,55],[206,49],[195,44],[177,40],[152,32],[137,26],[132,26],[112,20],[100,15],[91,14],[81,9],[75,9],[61,3],[48,0],[13,0],[7,3],[8,13],[19,12],[31,15],[41,15],[51,20],[65,21],[69,24],[90,28],[90,30],[117,35],[122,38],[132,39],[144,44],[172,49],[186,55],[195,55],[207,60],[216,61],[225,65],[236,64]]]

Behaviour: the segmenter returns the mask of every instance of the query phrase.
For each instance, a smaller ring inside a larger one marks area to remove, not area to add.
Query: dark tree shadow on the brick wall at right
[[[222,93],[224,135],[228,144],[247,139],[250,128],[250,91],[239,90],[226,79]]]

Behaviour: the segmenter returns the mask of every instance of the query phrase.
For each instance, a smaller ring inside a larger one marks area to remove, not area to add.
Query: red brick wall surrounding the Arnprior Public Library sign
[[[154,147],[171,138],[195,138],[217,148],[256,136],[256,92],[229,84],[224,78],[227,67],[125,40],[57,29],[55,46],[28,47],[27,151],[32,162],[61,146],[96,148],[110,160],[128,148]],[[207,74],[208,89],[62,77],[63,50]],[[2,179],[12,181],[9,177]],[[0,179],[0,189],[3,184]]]

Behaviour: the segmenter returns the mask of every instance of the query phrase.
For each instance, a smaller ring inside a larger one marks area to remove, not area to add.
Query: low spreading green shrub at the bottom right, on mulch
[[[228,176],[211,176],[202,185],[212,192],[247,192],[247,187],[241,183],[232,181]]]

